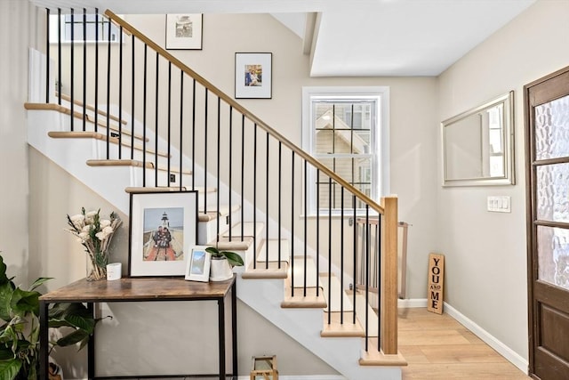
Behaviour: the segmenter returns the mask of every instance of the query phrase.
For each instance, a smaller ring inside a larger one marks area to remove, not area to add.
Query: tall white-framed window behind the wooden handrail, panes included
[[[389,87],[305,87],[302,147],[346,182],[378,201],[389,192]],[[341,208],[341,186],[311,170],[309,214]],[[318,194],[318,199],[317,199]],[[353,198],[344,191],[344,207]],[[364,207],[357,202],[357,209]]]

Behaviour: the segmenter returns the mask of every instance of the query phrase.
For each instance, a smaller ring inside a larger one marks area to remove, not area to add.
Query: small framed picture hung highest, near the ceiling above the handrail
[[[166,50],[202,50],[202,13],[166,14]]]

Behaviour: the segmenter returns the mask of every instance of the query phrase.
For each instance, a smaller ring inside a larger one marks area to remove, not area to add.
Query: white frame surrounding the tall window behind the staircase
[[[330,101],[373,99],[376,102],[376,130],[371,144],[373,150],[371,198],[379,203],[381,197],[389,194],[389,86],[302,87],[302,149],[313,157],[316,156],[316,127],[313,125],[312,102],[318,99]],[[309,170],[307,181],[309,182],[309,198],[304,201],[308,202],[309,215],[306,216],[316,216],[316,170]],[[344,214],[351,209],[349,205],[345,205],[345,208]],[[327,211],[327,206],[320,205],[320,210]],[[362,214],[364,211],[357,209],[357,214]],[[334,210],[333,214],[335,214]]]

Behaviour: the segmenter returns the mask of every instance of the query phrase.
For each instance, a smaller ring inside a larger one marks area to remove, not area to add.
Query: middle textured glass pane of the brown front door
[[[537,167],[537,218],[569,222],[569,164]]]

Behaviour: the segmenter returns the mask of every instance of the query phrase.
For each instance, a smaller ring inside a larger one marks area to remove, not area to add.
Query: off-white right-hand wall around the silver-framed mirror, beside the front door
[[[437,244],[445,254],[445,301],[523,360],[528,358],[523,86],[567,65],[569,2],[539,0],[439,77],[439,121],[515,92],[517,184],[439,187]],[[432,133],[437,128],[432,125]],[[486,198],[492,195],[511,197],[511,214],[487,212]]]

